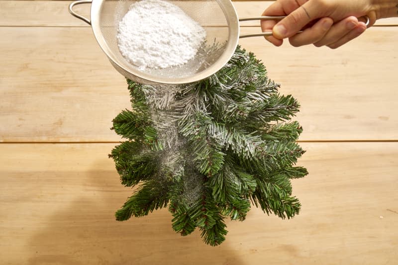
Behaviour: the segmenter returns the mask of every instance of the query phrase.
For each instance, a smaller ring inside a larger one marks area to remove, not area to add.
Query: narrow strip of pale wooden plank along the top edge
[[[259,16],[273,1],[235,1],[239,17]],[[88,26],[69,14],[71,1],[0,0],[0,26]],[[75,10],[90,17],[90,4],[77,5]],[[258,21],[242,26],[258,26]],[[398,18],[381,19],[377,25],[398,25]]]

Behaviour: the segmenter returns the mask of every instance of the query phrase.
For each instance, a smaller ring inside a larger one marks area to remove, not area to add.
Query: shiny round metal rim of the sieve
[[[236,46],[238,45],[239,40],[239,19],[236,13],[235,7],[233,6],[231,1],[222,1],[216,0],[220,5],[221,9],[224,12],[225,18],[227,20],[228,25],[228,40],[226,43],[226,47],[222,55],[207,69],[199,72],[190,77],[185,78],[164,78],[164,77],[154,77],[152,75],[145,74],[135,69],[131,69],[126,63],[117,60],[116,55],[106,44],[106,41],[103,37],[103,34],[100,29],[100,12],[103,7],[104,0],[92,0],[91,4],[91,21],[89,20],[89,24],[92,26],[92,30],[94,36],[100,45],[101,50],[105,53],[108,59],[111,61],[112,66],[121,73],[124,71],[126,73],[131,74],[134,77],[140,79],[140,81],[144,81],[147,83],[162,83],[162,84],[186,84],[196,82],[202,79],[205,79],[213,74],[215,74],[218,70],[220,70],[231,58],[234,53]],[[85,1],[89,2],[89,1]],[[87,21],[86,19],[85,21]],[[118,69],[119,68],[119,69]],[[122,73],[123,74],[123,73]]]

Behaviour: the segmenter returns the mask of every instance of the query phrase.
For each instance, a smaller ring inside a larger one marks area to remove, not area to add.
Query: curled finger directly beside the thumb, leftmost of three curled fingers
[[[333,20],[330,17],[321,18],[312,27],[289,38],[289,42],[295,47],[318,42],[328,33],[332,25]]]

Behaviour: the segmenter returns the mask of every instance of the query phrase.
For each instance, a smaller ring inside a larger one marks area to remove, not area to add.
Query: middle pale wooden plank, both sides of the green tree
[[[1,142],[119,141],[109,128],[129,107],[128,90],[90,28],[0,34]],[[300,101],[300,140],[398,140],[396,28],[371,28],[337,50],[277,48],[262,37],[240,43]]]

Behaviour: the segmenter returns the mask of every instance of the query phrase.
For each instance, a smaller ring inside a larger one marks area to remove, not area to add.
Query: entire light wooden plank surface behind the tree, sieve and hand
[[[293,182],[297,217],[253,208],[213,248],[166,210],[114,221],[131,191],[109,127],[129,96],[69,3],[0,0],[0,264],[397,264],[397,19],[337,50],[240,41],[300,101],[309,176]],[[234,4],[243,17],[270,1]]]

